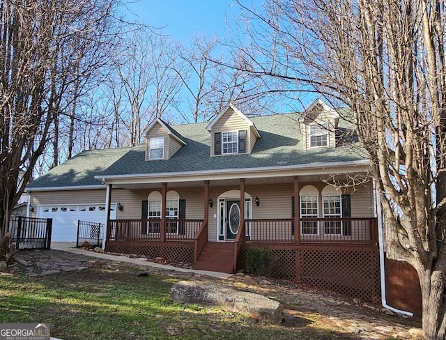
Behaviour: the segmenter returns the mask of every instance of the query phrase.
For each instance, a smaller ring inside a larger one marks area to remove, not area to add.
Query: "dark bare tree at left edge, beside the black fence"
[[[71,67],[79,55],[70,52],[83,46],[93,60],[102,56],[114,36],[105,33],[118,22],[114,10],[116,2],[109,0],[0,2],[1,245],[11,209],[72,102],[70,86],[84,77]],[[24,170],[20,182],[19,169]],[[5,247],[0,248],[3,258]]]

